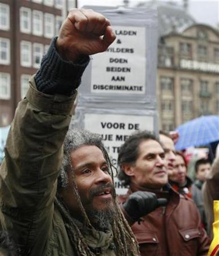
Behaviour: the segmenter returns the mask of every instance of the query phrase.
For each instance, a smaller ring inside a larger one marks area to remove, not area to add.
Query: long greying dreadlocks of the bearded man
[[[85,209],[83,208],[81,197],[78,192],[77,184],[75,183],[74,179],[74,170],[71,165],[70,154],[72,151],[76,150],[77,148],[87,145],[87,146],[96,146],[102,152],[103,156],[107,161],[109,172],[113,180],[113,166],[111,164],[110,158],[107,154],[106,149],[104,148],[102,138],[99,134],[90,133],[90,131],[74,128],[68,131],[64,141],[64,159],[62,162],[62,168],[60,176],[58,177],[58,190],[57,190],[57,197],[54,201],[55,207],[60,211],[62,214],[65,228],[68,233],[69,240],[71,245],[74,248],[75,255],[78,256],[94,256],[95,253],[90,249],[87,245],[85,238],[81,230],[78,228],[77,224],[75,223],[74,219],[71,217],[69,209],[65,206],[65,203],[62,201],[61,197],[58,195],[60,189],[65,189],[68,187],[68,172],[71,172],[73,175],[73,193],[75,196],[75,200],[81,209],[81,213],[83,216],[83,226],[85,228],[91,228],[91,222],[89,217],[87,216]],[[115,207],[116,217],[113,219],[112,224],[112,233],[113,233],[113,242],[115,244],[115,251],[117,255],[120,256],[136,256],[140,255],[136,238],[130,229],[128,222],[125,220],[123,213],[117,206],[117,202],[113,199],[113,205]]]

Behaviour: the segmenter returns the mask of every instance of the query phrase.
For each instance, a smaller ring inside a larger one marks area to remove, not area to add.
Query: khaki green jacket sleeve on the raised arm
[[[42,225],[50,228],[47,220],[52,220],[62,142],[74,102],[74,97],[37,91],[33,78],[30,86],[12,121],[0,176],[2,229],[22,234],[25,243],[34,240]]]

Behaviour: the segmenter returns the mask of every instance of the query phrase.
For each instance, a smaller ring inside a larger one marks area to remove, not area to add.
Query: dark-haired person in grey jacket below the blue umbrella
[[[204,228],[207,230],[207,220],[203,204],[203,195],[201,188],[203,187],[204,181],[210,172],[210,162],[207,159],[201,158],[195,163],[195,174],[196,179],[192,184],[192,199],[195,201],[197,208],[199,209],[201,220],[203,221]]]

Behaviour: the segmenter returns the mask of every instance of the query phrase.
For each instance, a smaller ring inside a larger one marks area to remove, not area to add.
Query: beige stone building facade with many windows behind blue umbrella
[[[219,36],[195,24],[162,38],[158,49],[160,129],[170,131],[200,115],[219,114]]]

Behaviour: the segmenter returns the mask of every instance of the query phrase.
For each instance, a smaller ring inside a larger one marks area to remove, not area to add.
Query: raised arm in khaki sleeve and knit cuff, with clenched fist
[[[52,225],[62,143],[87,55],[105,51],[113,40],[103,15],[71,10],[16,109],[0,172],[0,228],[22,236],[27,248]]]

